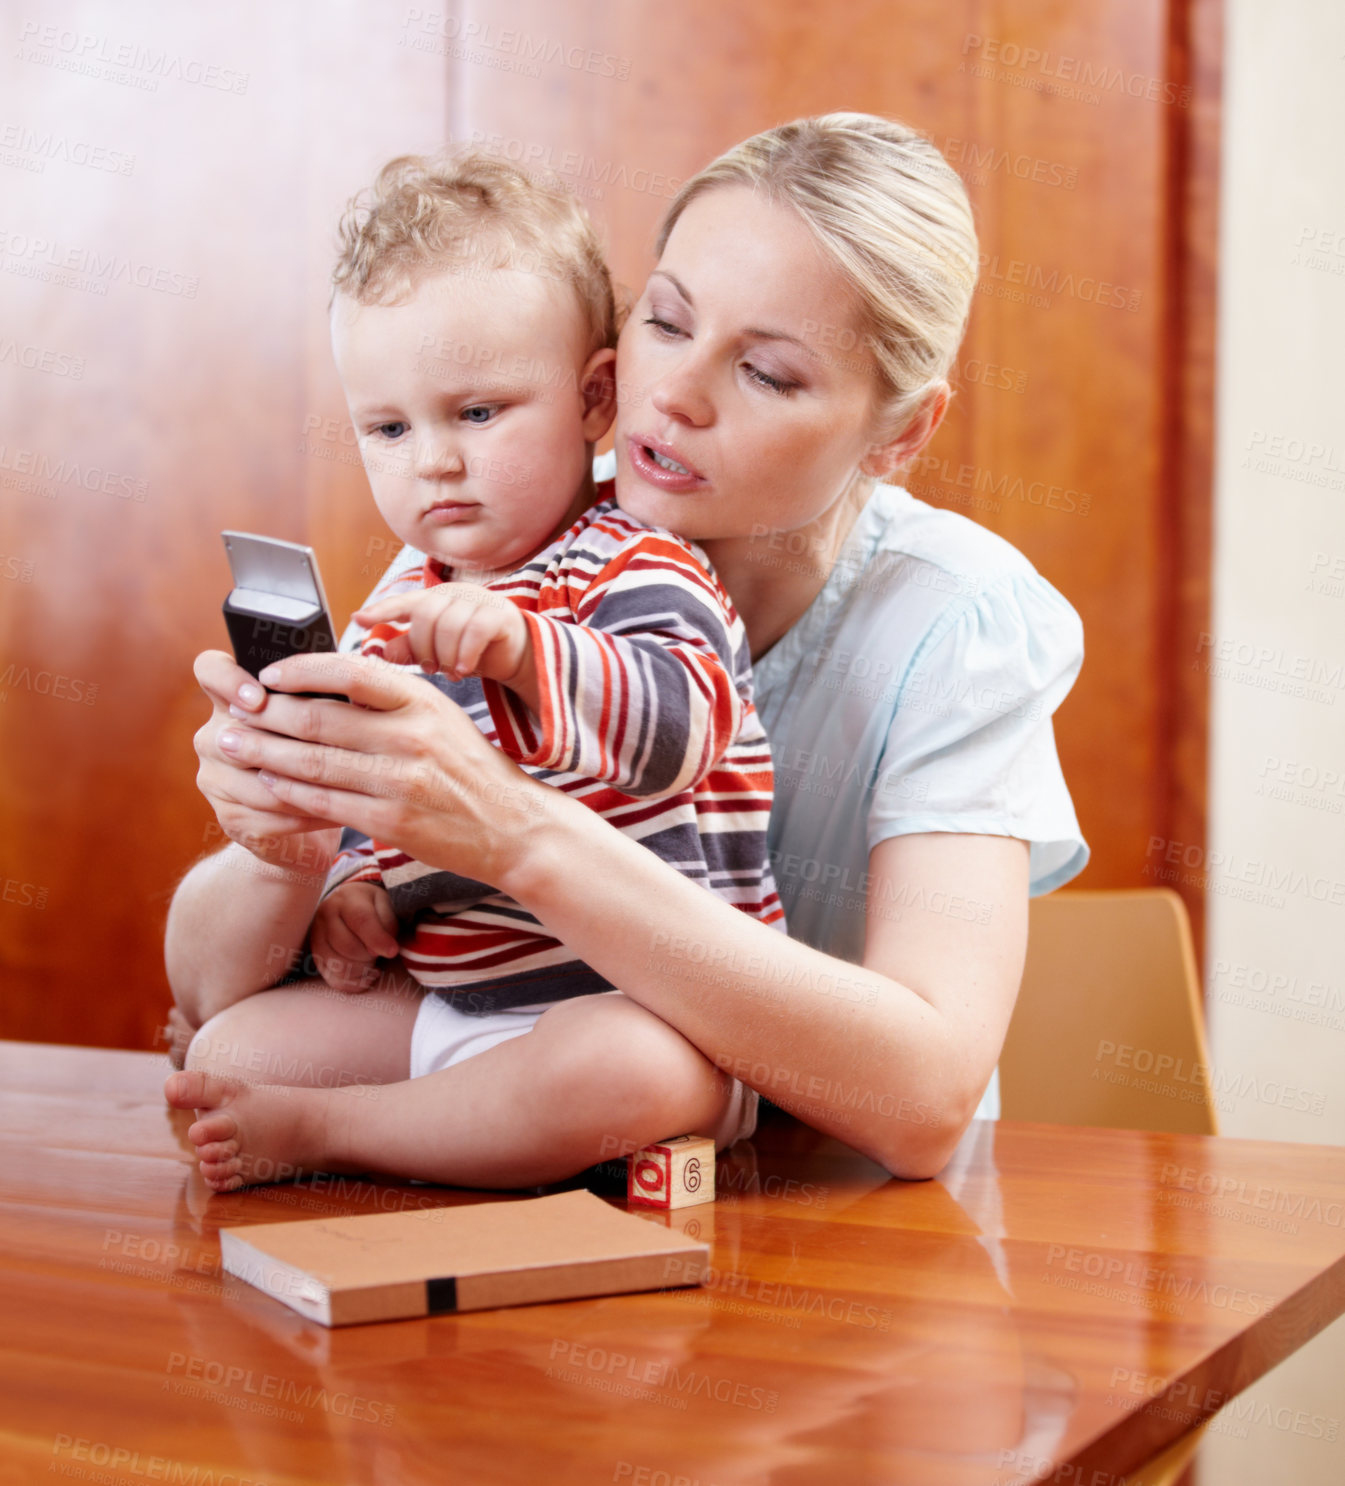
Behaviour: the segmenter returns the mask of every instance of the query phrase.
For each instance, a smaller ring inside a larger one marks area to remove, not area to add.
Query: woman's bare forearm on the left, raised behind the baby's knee
[[[327,854],[296,851],[272,866],[230,843],[198,862],[168,909],[163,961],[183,1013],[201,1025],[275,985],[293,966],[323,896]]]

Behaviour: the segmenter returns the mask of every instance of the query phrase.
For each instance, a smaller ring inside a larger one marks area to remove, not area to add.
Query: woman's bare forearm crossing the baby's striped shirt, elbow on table
[[[939,1169],[975,1109],[984,1079],[929,1000],[749,918],[583,805],[548,810],[499,886],[716,1067],[895,1174]]]

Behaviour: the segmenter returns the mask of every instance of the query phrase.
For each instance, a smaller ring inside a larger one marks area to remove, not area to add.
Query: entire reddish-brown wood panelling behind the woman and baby
[[[223,643],[217,533],[312,541],[339,617],[382,571],[325,276],[349,192],[444,137],[557,169],[638,290],[676,184],[745,135],[841,107],[929,132],[988,262],[953,413],[908,484],[1002,532],[1083,615],[1057,731],[1085,883],[1149,881],[1152,837],[1201,844],[1204,687],[1177,669],[1207,603],[1211,16],[1217,0],[42,7],[0,59],[0,1034],[153,1039],[168,898],[217,841],[190,747],[190,660]],[[1195,108],[1168,101],[1187,83]],[[104,168],[71,158],[95,149]],[[56,267],[95,259],[101,276]]]

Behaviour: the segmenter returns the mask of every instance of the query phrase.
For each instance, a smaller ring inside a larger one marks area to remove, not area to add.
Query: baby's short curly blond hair
[[[389,303],[444,269],[525,269],[574,290],[590,354],[617,343],[612,278],[583,205],[489,155],[398,155],[351,198],[339,236],[333,300]]]

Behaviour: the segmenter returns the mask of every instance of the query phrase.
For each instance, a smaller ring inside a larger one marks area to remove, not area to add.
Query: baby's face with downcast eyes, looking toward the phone
[[[397,305],[337,296],[331,348],[373,498],[404,542],[455,568],[508,569],[587,508],[587,441],[606,429],[586,424],[568,285],[468,267]]]

